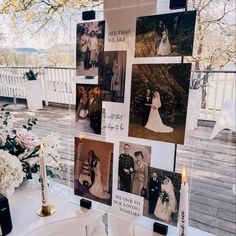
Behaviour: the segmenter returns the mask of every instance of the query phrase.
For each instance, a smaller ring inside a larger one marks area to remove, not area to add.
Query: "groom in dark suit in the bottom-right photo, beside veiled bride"
[[[149,201],[148,201],[148,214],[153,215],[157,200],[161,191],[161,182],[157,179],[157,172],[152,173],[152,177],[149,179]]]

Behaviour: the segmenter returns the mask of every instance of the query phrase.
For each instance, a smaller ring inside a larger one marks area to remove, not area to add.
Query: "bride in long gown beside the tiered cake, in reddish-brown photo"
[[[107,193],[103,188],[101,163],[99,160],[97,161],[97,165],[94,168],[94,172],[95,172],[95,179],[93,185],[89,189],[89,192],[95,197],[101,199],[109,199],[111,197],[110,194]]]

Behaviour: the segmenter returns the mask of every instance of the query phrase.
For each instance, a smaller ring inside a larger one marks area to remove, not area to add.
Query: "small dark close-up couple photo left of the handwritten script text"
[[[76,84],[76,128],[80,132],[101,134],[102,89],[98,85]]]

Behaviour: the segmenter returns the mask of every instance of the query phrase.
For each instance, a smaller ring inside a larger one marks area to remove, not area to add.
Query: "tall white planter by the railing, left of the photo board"
[[[25,83],[27,105],[30,110],[43,109],[43,89],[40,80],[27,80]]]

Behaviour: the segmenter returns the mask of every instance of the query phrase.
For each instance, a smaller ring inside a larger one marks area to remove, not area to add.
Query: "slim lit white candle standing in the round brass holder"
[[[46,165],[44,161],[43,144],[40,145],[39,165],[40,165],[40,179],[41,179],[41,187],[42,187],[42,205],[48,206],[47,170],[46,170]]]

